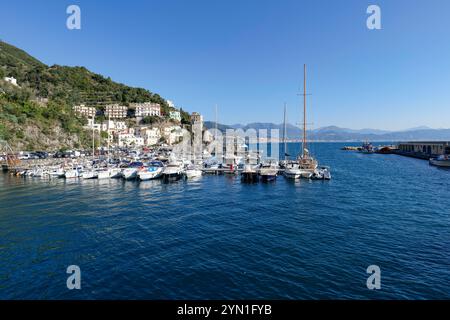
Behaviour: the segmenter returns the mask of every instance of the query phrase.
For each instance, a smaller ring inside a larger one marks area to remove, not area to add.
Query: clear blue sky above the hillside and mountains
[[[66,28],[81,8],[82,29]],[[382,30],[366,28],[377,4]],[[82,65],[222,123],[313,127],[450,123],[450,1],[3,1],[0,38],[47,64]]]

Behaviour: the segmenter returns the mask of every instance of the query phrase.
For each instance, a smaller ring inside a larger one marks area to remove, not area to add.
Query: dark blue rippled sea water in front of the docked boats
[[[0,174],[0,298],[450,298],[450,171],[341,146],[312,147],[329,182]]]

